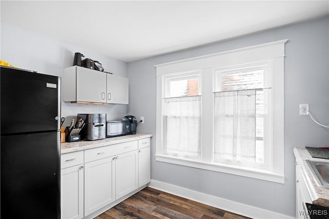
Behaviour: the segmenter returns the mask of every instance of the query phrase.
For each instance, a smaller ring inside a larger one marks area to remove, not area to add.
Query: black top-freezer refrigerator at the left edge
[[[0,217],[60,218],[61,78],[1,67]]]

